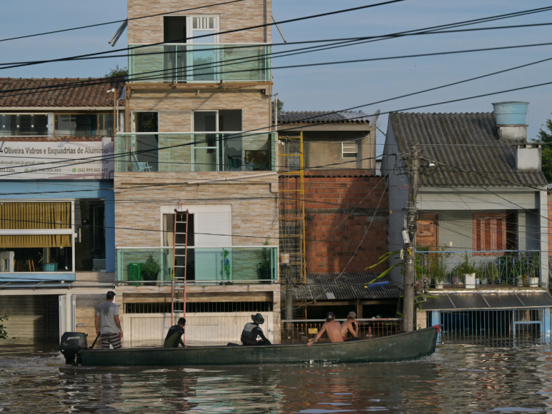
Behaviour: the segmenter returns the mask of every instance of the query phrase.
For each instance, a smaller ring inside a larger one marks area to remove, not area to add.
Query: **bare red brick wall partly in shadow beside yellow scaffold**
[[[307,273],[365,271],[386,253],[386,178],[366,176],[368,173],[365,170],[362,171],[364,176],[339,176],[337,171],[329,177],[316,176],[315,171],[306,174]],[[290,178],[293,180],[296,178]],[[285,188],[283,181],[280,188]],[[281,196],[289,197],[289,193],[281,193]],[[281,201],[281,206],[284,202]],[[366,237],[361,242],[368,226]],[[353,259],[347,265],[351,256]],[[385,268],[386,263],[382,263],[371,271]]]

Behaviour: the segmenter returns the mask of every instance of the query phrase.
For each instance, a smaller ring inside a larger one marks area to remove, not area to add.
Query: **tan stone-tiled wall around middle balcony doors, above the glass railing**
[[[269,130],[270,96],[259,89],[234,91],[196,90],[158,91],[152,94],[136,91],[130,101],[131,111],[159,111],[159,131],[192,131],[192,111],[241,109],[242,131]],[[130,131],[130,129],[128,129]]]

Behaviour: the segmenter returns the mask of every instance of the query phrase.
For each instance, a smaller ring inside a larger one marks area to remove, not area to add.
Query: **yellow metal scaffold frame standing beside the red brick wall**
[[[297,282],[306,283],[306,231],[305,231],[305,178],[304,178],[304,158],[303,158],[303,131],[301,131],[300,136],[278,136],[278,139],[286,139],[289,141],[296,140],[299,141],[299,152],[298,153],[283,153],[278,154],[278,156],[283,157],[283,163],[281,165],[288,166],[289,157],[299,157],[299,171],[280,171],[279,173],[283,176],[298,176],[299,186],[293,186],[285,178],[281,181],[282,185],[280,188],[281,193],[298,193],[296,201],[298,202],[298,208],[291,215],[283,214],[279,217],[280,223],[283,224],[286,228],[286,223],[289,222],[298,222],[299,223],[299,232],[298,234],[288,235],[285,234],[285,231],[280,231],[280,239],[285,240],[286,238],[299,238],[299,251],[294,252],[293,254],[299,256],[299,261],[292,262],[291,265],[299,266],[300,268],[300,278]],[[282,200],[280,200],[282,203]],[[283,200],[283,203],[286,203],[286,200]],[[280,209],[281,210],[281,209]],[[285,208],[283,209],[285,212]]]

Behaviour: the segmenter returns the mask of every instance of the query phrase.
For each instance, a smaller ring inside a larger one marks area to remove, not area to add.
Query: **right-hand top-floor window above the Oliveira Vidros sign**
[[[113,136],[113,113],[56,114],[55,133],[61,136]]]

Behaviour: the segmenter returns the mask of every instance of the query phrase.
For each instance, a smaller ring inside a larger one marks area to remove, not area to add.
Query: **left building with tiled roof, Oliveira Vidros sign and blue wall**
[[[11,342],[94,334],[94,304],[114,288],[114,128],[123,88],[0,79],[0,315],[9,315]]]

